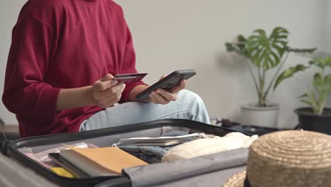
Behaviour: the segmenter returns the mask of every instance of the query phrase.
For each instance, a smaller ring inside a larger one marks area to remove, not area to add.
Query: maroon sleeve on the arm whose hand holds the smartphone
[[[126,24],[127,32],[127,45],[125,47],[123,64],[122,64],[122,74],[137,73],[136,69],[136,53],[134,52],[134,45],[132,41],[132,35],[129,27]],[[119,103],[125,103],[129,101],[129,93],[134,87],[138,85],[146,85],[143,81],[136,81],[126,84],[125,89],[122,93],[122,98]]]

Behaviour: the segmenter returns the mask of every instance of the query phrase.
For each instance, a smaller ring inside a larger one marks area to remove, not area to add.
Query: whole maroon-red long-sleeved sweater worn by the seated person
[[[77,132],[98,106],[57,112],[60,89],[137,72],[122,8],[111,0],[29,0],[13,28],[2,100],[22,137]],[[127,84],[121,103],[139,84]]]

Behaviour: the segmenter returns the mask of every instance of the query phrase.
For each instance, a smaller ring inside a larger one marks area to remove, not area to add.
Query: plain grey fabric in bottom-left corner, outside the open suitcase
[[[37,175],[35,171],[26,169],[0,154],[0,186],[53,187],[56,185]]]

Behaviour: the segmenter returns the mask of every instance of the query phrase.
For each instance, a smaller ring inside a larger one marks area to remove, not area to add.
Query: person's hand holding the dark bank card
[[[108,108],[120,101],[125,84],[112,80],[112,74],[107,74],[103,79],[95,81],[91,87],[91,98],[95,105]]]

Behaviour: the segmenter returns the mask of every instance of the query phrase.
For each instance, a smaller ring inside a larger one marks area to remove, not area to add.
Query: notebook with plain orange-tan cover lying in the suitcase
[[[146,162],[117,147],[69,148],[71,149],[60,152],[61,157],[64,157],[90,176],[121,174],[122,169],[147,165]]]

